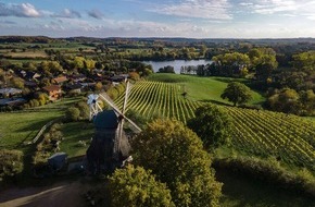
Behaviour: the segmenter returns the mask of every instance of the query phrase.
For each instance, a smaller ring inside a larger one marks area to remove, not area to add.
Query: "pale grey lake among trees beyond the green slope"
[[[158,72],[159,69],[171,65],[174,66],[175,73],[180,73],[181,66],[188,66],[188,65],[199,65],[199,64],[207,64],[211,63],[211,60],[172,60],[172,61],[143,61],[146,64],[151,64],[154,72]]]

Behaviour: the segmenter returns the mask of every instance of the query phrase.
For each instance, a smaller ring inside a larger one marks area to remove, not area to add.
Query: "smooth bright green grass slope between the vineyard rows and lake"
[[[198,101],[215,101],[229,104],[220,98],[220,94],[227,86],[228,82],[240,81],[241,78],[230,77],[199,77],[193,75],[179,75],[168,73],[154,73],[149,77],[149,81],[166,82],[178,84],[182,92],[187,92],[188,97]],[[257,92],[252,93],[253,99],[250,105],[260,105],[265,98]]]

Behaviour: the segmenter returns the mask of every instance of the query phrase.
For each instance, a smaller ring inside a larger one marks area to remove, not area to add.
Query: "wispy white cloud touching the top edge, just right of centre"
[[[231,20],[232,16],[228,11],[230,7],[227,0],[182,0],[179,4],[156,5],[149,11],[185,17]]]

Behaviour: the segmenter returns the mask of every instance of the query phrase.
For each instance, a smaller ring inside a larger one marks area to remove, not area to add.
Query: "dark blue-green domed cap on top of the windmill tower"
[[[99,112],[93,120],[96,129],[116,129],[118,125],[118,118],[114,110],[104,110]]]

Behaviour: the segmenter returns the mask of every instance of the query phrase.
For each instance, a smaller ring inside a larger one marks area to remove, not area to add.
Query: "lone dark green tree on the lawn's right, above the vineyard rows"
[[[251,89],[242,83],[230,82],[220,95],[223,99],[228,99],[234,106],[245,104],[252,99]]]

